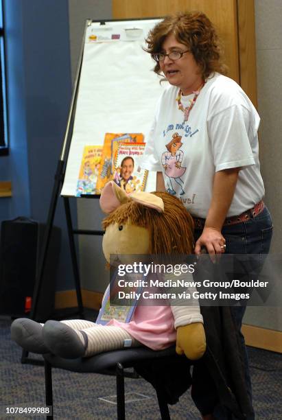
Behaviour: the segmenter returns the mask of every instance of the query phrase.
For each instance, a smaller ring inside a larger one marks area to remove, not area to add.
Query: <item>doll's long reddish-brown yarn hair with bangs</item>
[[[150,254],[192,254],[193,218],[178,198],[167,192],[152,194],[162,198],[165,205],[163,213],[130,200],[103,220],[103,228],[113,223],[124,224],[130,219],[132,224],[148,229]]]

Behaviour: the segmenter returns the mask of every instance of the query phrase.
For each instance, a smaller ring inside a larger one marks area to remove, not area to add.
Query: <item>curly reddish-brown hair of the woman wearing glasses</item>
[[[165,38],[174,34],[179,43],[187,45],[191,54],[200,67],[203,80],[218,71],[226,74],[226,65],[222,62],[222,47],[215,27],[209,18],[202,12],[179,12],[167,16],[157,23],[149,32],[145,49],[150,54],[162,51]],[[161,74],[159,62],[156,62],[154,72]]]

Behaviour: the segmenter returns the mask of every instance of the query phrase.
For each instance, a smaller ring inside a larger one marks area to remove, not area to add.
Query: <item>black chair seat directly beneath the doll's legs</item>
[[[182,357],[176,354],[175,346],[165,350],[151,350],[147,347],[134,347],[130,349],[121,349],[114,351],[106,351],[93,355],[89,358],[64,359],[56,355],[45,354],[43,357],[51,366],[66,369],[67,371],[82,373],[99,373],[102,371],[114,370],[117,363],[121,363],[124,368],[131,367],[134,363],[139,363],[150,359],[169,358],[171,361],[173,356],[176,359]]]

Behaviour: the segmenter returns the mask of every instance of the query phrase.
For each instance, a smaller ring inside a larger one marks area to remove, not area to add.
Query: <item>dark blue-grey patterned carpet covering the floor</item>
[[[257,419],[282,420],[282,355],[253,348],[248,348],[248,352]],[[45,405],[43,369],[43,366],[21,364],[21,349],[10,340],[10,320],[0,320],[0,419],[9,418],[5,415],[6,406]],[[115,377],[54,369],[53,387],[55,419],[116,418],[115,404],[99,399],[115,395]],[[149,397],[128,402],[127,419],[160,418],[154,388],[148,382],[126,378],[126,393]],[[200,419],[189,392],[169,410],[172,419]]]

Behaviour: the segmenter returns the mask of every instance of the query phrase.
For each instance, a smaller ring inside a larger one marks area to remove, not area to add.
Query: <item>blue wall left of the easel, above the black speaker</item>
[[[0,220],[19,215],[46,222],[71,100],[67,0],[5,0],[10,155],[0,157]],[[73,213],[74,214],[74,213]],[[62,199],[57,290],[74,288]]]

